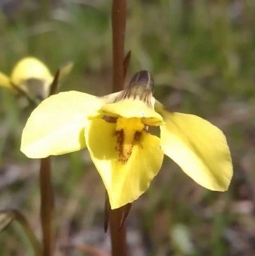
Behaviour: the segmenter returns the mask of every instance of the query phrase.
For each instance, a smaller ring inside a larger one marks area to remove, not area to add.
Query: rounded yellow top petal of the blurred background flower
[[[50,84],[53,77],[47,66],[34,57],[25,57],[18,61],[11,73],[11,82],[20,86],[24,80],[38,79]]]

